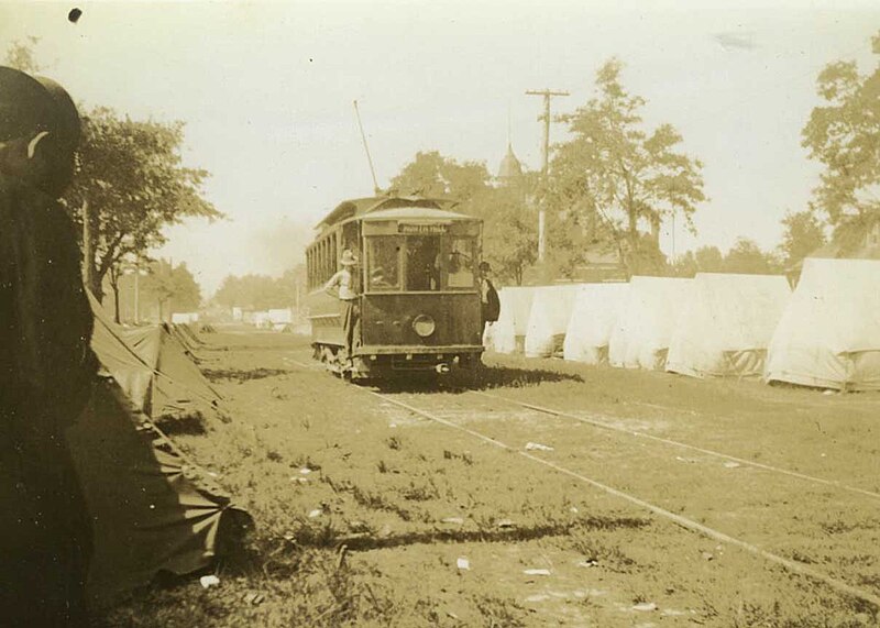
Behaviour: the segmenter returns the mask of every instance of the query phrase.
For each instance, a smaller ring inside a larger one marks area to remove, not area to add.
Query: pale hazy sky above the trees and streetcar
[[[417,151],[495,172],[508,111],[514,151],[538,168],[541,102],[525,90],[568,90],[553,107],[572,111],[612,56],[647,121],[672,123],[705,163],[711,200],[696,238],[675,230],[676,252],[739,235],[774,246],[820,172],[800,146],[816,75],[842,58],[867,69],[880,30],[867,0],[77,5],[72,24],[70,3],[0,4],[0,51],[38,36],[44,74],[78,102],[187,123],[185,159],[212,174],[207,197],[229,220],[170,229],[157,254],[186,261],[208,293],[300,262],[301,225],[372,194],[354,99],[380,185]]]

